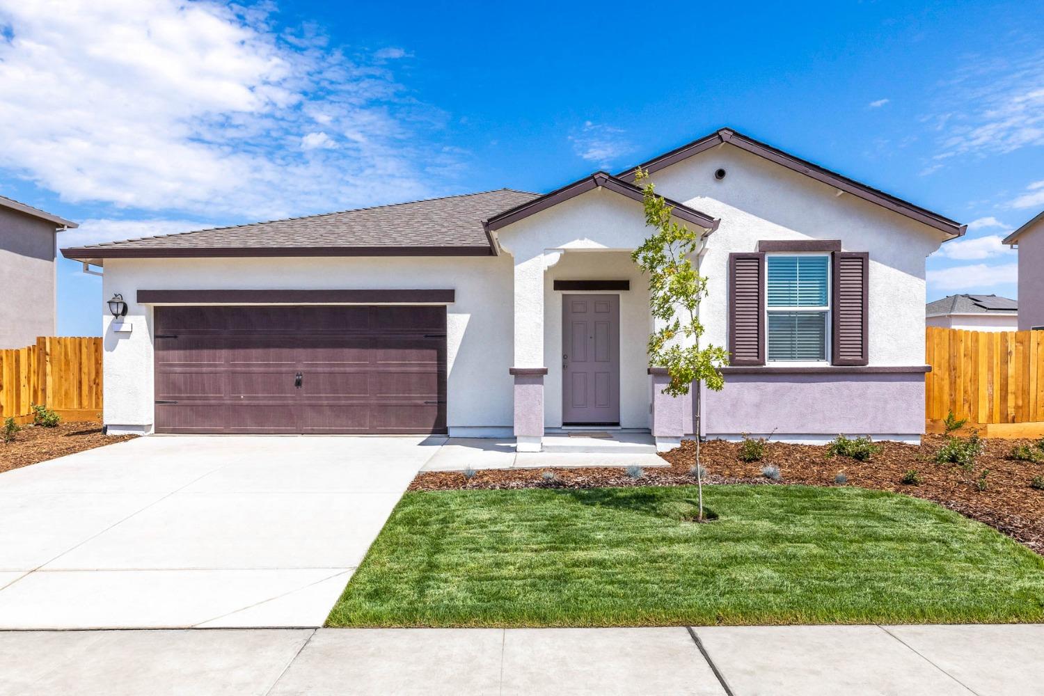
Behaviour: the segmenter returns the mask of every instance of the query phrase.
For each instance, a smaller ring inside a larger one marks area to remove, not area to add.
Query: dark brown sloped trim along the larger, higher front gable
[[[775,162],[776,164],[796,171],[799,174],[804,174],[846,193],[851,193],[858,198],[869,200],[870,202],[891,210],[894,213],[899,213],[900,215],[904,215],[908,218],[917,220],[918,222],[923,222],[930,227],[934,227],[940,232],[950,235],[951,238],[964,236],[965,231],[968,227],[968,225],[960,224],[959,222],[943,217],[938,213],[932,213],[927,209],[915,206],[909,201],[897,198],[896,196],[887,194],[883,191],[869,187],[865,184],[860,184],[859,182],[838,174],[837,172],[830,171],[829,169],[825,169],[816,164],[812,164],[807,160],[802,160],[793,157],[792,154],[787,154],[783,150],[776,149],[770,145],[766,145],[765,143],[754,140],[753,138],[736,133],[731,128],[721,128],[716,133],[712,133],[709,136],[701,138],[699,140],[694,140],[687,145],[683,145],[669,152],[665,152],[660,157],[643,162],[638,165],[638,167],[632,167],[631,169],[620,172],[617,174],[617,177],[624,182],[634,182],[635,170],[638,168],[644,169],[650,173],[659,171],[660,169],[669,167],[670,165],[677,164],[682,160],[686,160],[694,154],[717,147],[723,143],[728,143],[740,148],[741,150],[764,158],[769,162]]]

